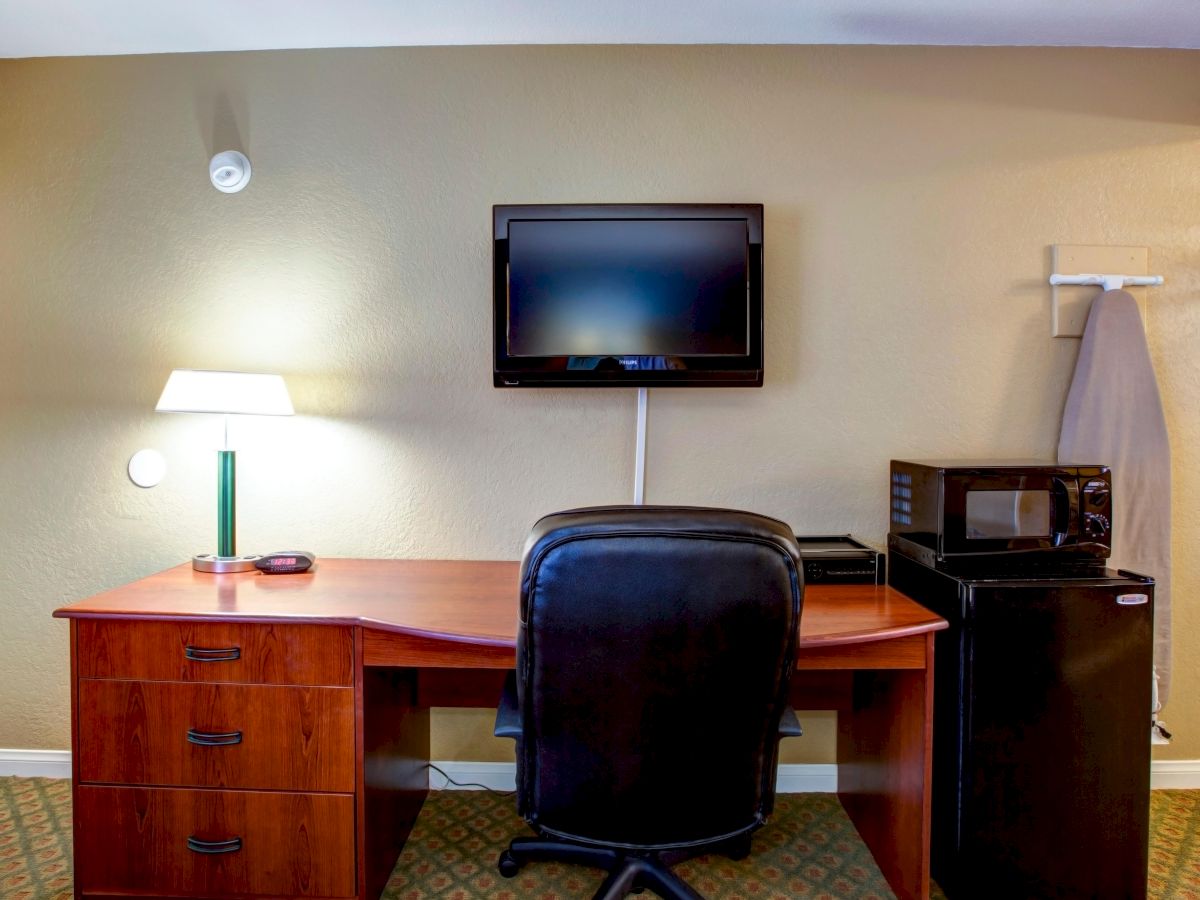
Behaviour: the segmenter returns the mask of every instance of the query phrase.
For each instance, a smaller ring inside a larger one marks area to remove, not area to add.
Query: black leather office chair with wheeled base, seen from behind
[[[775,799],[803,569],[782,522],[750,512],[611,506],[546,516],[521,564],[517,668],[496,734],[517,742],[517,811],[536,838],[500,854],[605,869],[595,900],[670,871],[740,859]]]

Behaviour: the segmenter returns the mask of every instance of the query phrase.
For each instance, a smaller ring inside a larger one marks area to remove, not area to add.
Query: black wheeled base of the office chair
[[[691,852],[671,851],[636,854],[626,850],[570,844],[552,838],[514,838],[500,853],[497,868],[505,878],[512,878],[521,866],[533,862],[559,862],[602,869],[608,872],[592,900],[622,900],[649,888],[664,900],[704,900],[683,878],[671,871],[672,865],[700,853],[718,852],[732,859],[750,854],[750,835],[725,844],[700,847]]]

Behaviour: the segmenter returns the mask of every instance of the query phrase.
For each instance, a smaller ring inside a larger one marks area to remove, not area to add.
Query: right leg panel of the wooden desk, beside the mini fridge
[[[934,642],[926,668],[854,673],[838,714],[838,794],[900,900],[928,900]]]

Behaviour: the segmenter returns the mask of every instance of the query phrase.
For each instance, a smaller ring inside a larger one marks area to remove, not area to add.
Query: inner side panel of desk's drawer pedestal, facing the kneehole
[[[430,791],[430,710],[416,706],[415,670],[359,672],[359,890],[376,900]]]

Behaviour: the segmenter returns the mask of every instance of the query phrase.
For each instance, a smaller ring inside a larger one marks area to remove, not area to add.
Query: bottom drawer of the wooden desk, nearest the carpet
[[[83,894],[355,894],[350,796],[80,785],[76,804]]]

